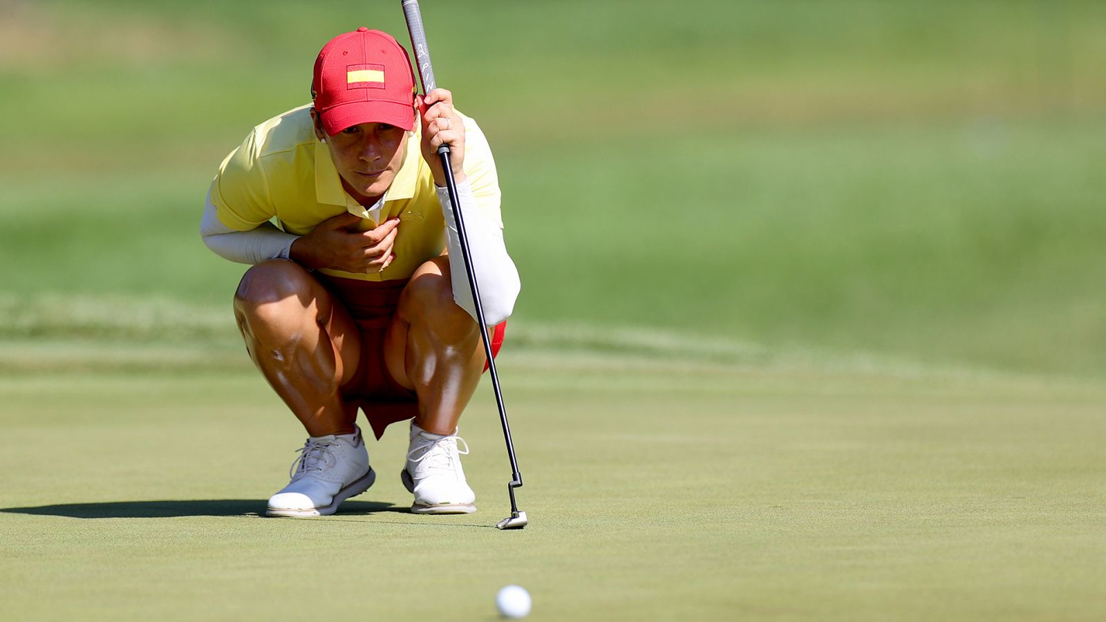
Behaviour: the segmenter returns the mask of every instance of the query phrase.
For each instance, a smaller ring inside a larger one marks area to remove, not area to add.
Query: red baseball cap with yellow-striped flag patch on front
[[[315,59],[311,99],[332,136],[361,123],[415,128],[410,58],[379,30],[361,27],[327,41]]]

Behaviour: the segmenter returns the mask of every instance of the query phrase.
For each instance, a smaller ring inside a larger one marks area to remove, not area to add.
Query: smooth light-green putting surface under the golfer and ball
[[[0,613],[491,620],[508,583],[533,620],[1106,611],[1100,387],[568,352],[501,367],[521,531],[493,527],[510,468],[487,386],[461,422],[478,512],[407,511],[394,427],[366,494],[269,519],[303,435],[248,367],[11,374]]]

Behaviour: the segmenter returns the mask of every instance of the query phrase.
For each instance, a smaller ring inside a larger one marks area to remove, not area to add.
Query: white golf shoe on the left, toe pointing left
[[[361,495],[376,480],[361,428],[353,434],[311,436],[292,463],[292,481],[269,499],[268,516],[334,514],[338,504]]]

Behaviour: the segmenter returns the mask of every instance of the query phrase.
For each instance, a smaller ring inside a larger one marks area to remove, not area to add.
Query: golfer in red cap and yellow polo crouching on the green
[[[219,166],[200,234],[251,263],[234,293],[246,349],[307,431],[269,516],[322,516],[376,478],[377,438],[414,419],[400,476],[411,510],[476,510],[457,423],[498,352],[519,274],[503,245],[491,151],[449,91],[415,95],[407,51],[380,31],[335,37],[312,103],[253,128]],[[450,147],[487,335],[436,154]],[[273,224],[275,221],[275,225]]]

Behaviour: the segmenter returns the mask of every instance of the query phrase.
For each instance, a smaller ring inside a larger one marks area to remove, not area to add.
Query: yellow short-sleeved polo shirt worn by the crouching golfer
[[[369,211],[342,187],[326,145],[315,137],[311,105],[291,110],[253,128],[222,164],[211,182],[211,203],[227,227],[248,231],[268,220],[298,236],[316,225],[349,211],[363,218],[368,230],[399,217],[396,258],[384,272],[358,274],[320,269],[335,277],[380,281],[407,279],[422,262],[442,253],[446,227],[430,167],[419,148],[420,128],[407,138],[407,154],[384,194],[379,211]],[[460,113],[458,113],[460,114]],[[483,132],[465,120],[465,174],[477,207],[502,227],[499,177]]]

